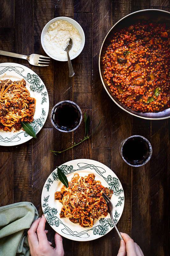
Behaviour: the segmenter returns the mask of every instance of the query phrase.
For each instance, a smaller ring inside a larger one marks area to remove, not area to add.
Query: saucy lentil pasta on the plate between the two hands
[[[75,173],[69,181],[69,187],[63,186],[61,191],[55,192],[55,199],[63,204],[60,218],[69,218],[81,227],[92,227],[94,219],[102,214],[107,216],[107,203],[102,193],[110,198],[113,190],[102,186],[94,178],[94,174],[80,177]]]

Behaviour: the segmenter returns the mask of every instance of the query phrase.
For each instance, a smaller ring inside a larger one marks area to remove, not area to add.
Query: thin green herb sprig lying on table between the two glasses
[[[57,155],[57,154],[63,153],[64,151],[66,151],[66,150],[68,150],[68,149],[71,149],[71,148],[73,148],[73,147],[79,145],[79,144],[82,143],[83,141],[89,139],[89,137],[90,137],[90,136],[95,132],[95,130],[99,127],[99,125],[100,125],[100,123],[101,123],[101,119],[102,119],[102,117],[100,118],[100,122],[99,122],[98,126],[94,129],[94,131],[93,131],[90,135],[88,135],[89,127],[90,127],[90,117],[89,117],[89,114],[87,114],[87,113],[85,112],[85,114],[84,114],[85,136],[84,136],[84,138],[81,139],[80,142],[74,143],[73,146],[71,146],[71,147],[69,147],[69,148],[67,148],[67,149],[64,149],[64,150],[62,150],[62,151],[53,151],[53,150],[50,150],[50,151],[53,152],[55,155]]]

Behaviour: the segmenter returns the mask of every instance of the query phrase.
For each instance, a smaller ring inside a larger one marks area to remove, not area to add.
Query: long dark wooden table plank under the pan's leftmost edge
[[[111,127],[108,117],[111,116],[112,102],[101,84],[98,67],[100,47],[111,25],[111,1],[96,1],[93,6],[93,129],[98,125],[100,118],[104,118],[102,125],[93,134],[93,147],[111,147],[111,129],[107,127]]]

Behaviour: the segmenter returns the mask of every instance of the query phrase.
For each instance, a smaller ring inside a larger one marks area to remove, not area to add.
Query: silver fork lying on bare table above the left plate
[[[44,61],[50,61],[50,57],[39,55],[39,54],[31,54],[29,56],[26,56],[26,55],[22,55],[22,54],[10,53],[10,52],[5,52],[5,51],[0,50],[0,55],[25,59],[31,65],[34,65],[34,66],[48,66],[48,65],[44,65],[44,64],[49,64],[49,62],[44,62]]]

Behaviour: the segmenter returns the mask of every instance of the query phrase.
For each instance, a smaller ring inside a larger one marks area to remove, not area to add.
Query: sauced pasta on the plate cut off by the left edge
[[[30,97],[26,81],[0,82],[0,129],[11,131],[21,129],[21,121],[33,121],[35,99]]]

